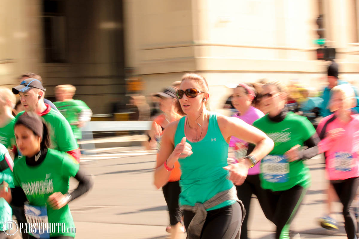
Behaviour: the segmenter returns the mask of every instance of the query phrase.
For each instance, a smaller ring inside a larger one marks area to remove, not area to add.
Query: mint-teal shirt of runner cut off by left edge
[[[8,149],[5,148],[5,146],[3,144],[0,144],[0,165],[4,165],[7,164],[5,161],[5,156],[9,159],[12,160],[10,158]],[[3,164],[4,163],[4,164]],[[11,171],[10,168],[6,168],[5,170],[3,170],[1,168],[1,172],[0,172],[0,182],[7,182],[9,184],[9,187],[14,187],[14,183],[13,183],[13,172]],[[4,198],[0,198],[0,225],[4,225],[5,228],[4,230],[8,230],[8,224],[4,224],[6,221],[9,220],[13,220],[13,210],[11,209],[10,205],[8,204],[8,202],[6,202],[6,200]],[[0,230],[1,230],[1,226],[0,226]]]

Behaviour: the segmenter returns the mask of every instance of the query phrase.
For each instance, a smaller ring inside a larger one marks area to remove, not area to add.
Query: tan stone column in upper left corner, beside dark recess
[[[12,87],[26,71],[39,71],[42,62],[40,0],[0,2],[0,85]]]

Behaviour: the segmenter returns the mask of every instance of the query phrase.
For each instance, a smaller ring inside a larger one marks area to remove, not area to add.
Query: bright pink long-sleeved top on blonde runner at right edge
[[[329,115],[323,118],[317,128],[320,134],[326,121],[332,118]],[[351,115],[351,121],[344,123],[335,119],[327,125],[325,132],[342,128],[344,134],[335,140],[324,138],[318,144],[319,152],[325,152],[326,171],[329,180],[345,180],[347,178],[359,177],[359,114]]]

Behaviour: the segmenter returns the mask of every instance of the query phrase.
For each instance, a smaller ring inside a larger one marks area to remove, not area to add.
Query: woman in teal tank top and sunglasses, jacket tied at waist
[[[200,75],[184,75],[177,97],[186,116],[163,132],[155,186],[167,183],[178,161],[182,171],[179,204],[187,238],[239,238],[244,213],[233,184],[241,185],[248,168],[266,156],[274,143],[242,120],[208,111],[208,83]],[[256,147],[241,162],[228,165],[232,136]]]

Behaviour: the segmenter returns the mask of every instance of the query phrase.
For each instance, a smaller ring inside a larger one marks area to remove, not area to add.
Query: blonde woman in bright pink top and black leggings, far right
[[[319,152],[325,153],[326,172],[343,205],[344,228],[348,239],[356,239],[357,224],[351,203],[359,183],[359,115],[351,114],[356,105],[349,84],[331,90],[331,111],[335,113],[321,120],[317,132],[322,138]]]

